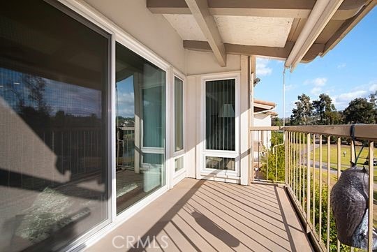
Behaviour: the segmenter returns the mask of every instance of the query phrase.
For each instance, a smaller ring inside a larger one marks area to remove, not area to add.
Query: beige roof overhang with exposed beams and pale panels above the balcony
[[[286,61],[295,68],[323,56],[346,36],[377,0],[147,0],[163,14],[188,50]]]

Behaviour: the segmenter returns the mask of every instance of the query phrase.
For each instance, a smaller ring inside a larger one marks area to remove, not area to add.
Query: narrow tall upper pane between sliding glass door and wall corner
[[[174,105],[175,105],[175,151],[184,148],[183,138],[183,82],[175,77],[174,81]]]

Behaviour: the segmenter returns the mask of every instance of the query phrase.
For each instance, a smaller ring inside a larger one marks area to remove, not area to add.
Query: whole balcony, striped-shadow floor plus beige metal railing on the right
[[[359,166],[374,170],[368,161],[374,160],[377,126],[356,125],[355,142],[350,131],[351,126],[251,128],[250,186],[184,179],[89,251],[360,251],[337,239],[330,190],[349,167],[347,159],[359,156]],[[369,185],[372,195],[374,176]],[[369,197],[369,241],[374,204]]]

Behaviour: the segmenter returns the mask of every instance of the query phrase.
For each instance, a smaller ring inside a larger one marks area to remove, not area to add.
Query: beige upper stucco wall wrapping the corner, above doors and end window
[[[183,40],[168,20],[151,13],[146,0],[85,0],[126,33],[168,61],[185,75],[239,71],[239,55],[227,55],[227,66],[221,67],[212,52],[185,50]]]

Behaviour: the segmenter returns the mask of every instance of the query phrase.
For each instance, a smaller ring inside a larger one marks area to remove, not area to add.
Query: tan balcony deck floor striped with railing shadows
[[[313,249],[283,188],[184,179],[87,251]]]

